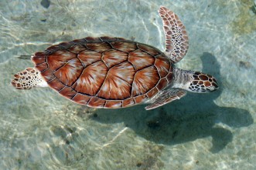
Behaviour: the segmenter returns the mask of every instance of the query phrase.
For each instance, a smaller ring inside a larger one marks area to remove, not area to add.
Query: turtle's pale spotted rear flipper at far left
[[[17,89],[48,86],[35,68],[26,68],[24,71],[15,74],[14,77],[11,84]]]

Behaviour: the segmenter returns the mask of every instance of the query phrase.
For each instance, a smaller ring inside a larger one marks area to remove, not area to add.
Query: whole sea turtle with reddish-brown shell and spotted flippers
[[[34,68],[17,73],[18,89],[50,87],[71,101],[93,108],[150,104],[157,108],[189,92],[213,92],[216,79],[174,65],[189,48],[185,26],[161,6],[166,52],[125,38],[82,38],[32,55]]]

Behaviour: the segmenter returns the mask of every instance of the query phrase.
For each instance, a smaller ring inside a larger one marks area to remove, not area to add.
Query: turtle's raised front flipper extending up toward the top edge
[[[166,35],[166,55],[172,62],[179,62],[189,48],[185,26],[174,12],[164,6],[159,8],[159,15]]]

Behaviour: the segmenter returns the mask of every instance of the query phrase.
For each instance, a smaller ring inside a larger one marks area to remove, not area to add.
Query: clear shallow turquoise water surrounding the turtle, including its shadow
[[[0,169],[256,169],[256,14],[250,0],[0,1]],[[143,105],[92,109],[49,88],[17,91],[18,58],[86,36],[164,50],[165,5],[189,34],[179,68],[215,75],[220,90]]]

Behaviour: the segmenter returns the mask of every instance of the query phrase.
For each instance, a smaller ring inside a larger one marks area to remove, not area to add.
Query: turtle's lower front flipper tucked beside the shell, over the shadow
[[[162,92],[159,92],[159,94],[156,95],[152,101],[149,102],[152,104],[146,106],[145,109],[150,110],[153,108],[158,108],[161,105],[166,105],[166,103],[182,98],[184,95],[186,95],[186,91],[179,88],[169,88],[163,90]]]

